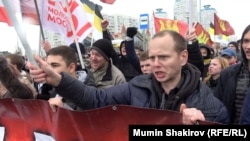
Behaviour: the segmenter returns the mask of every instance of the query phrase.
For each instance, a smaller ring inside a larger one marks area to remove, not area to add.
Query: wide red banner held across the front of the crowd
[[[52,112],[47,101],[0,99],[0,107],[0,140],[5,141],[128,141],[131,124],[182,124],[178,112],[124,105]]]

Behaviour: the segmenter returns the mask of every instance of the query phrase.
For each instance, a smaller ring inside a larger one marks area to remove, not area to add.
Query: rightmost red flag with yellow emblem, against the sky
[[[214,34],[215,35],[234,35],[234,29],[230,25],[230,23],[226,20],[221,20],[215,13],[214,13]]]

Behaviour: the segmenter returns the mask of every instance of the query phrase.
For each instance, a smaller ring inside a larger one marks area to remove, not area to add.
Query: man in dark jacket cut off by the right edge
[[[246,118],[242,117],[242,107],[250,86],[250,25],[243,31],[240,41],[242,62],[230,65],[221,72],[214,91],[227,107],[230,124],[240,124],[240,119]]]

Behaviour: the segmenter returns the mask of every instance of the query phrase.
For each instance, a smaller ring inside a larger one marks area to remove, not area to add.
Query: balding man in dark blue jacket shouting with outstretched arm
[[[61,96],[85,109],[114,104],[181,111],[184,124],[207,120],[228,122],[226,107],[200,80],[200,71],[187,63],[186,40],[175,31],[161,31],[149,43],[152,74],[140,75],[130,82],[107,89],[79,83],[65,73],[54,72],[35,56],[40,68],[29,64],[37,82],[55,86]],[[51,103],[53,106],[53,103]]]

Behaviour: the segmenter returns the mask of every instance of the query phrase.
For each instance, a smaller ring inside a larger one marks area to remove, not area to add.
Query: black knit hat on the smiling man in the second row
[[[113,45],[107,39],[99,39],[93,43],[92,49],[98,51],[106,60],[109,60]]]

